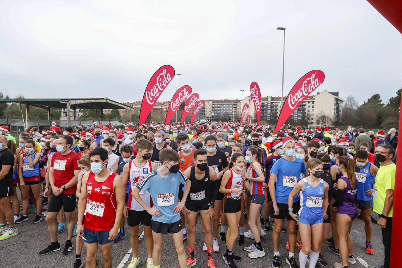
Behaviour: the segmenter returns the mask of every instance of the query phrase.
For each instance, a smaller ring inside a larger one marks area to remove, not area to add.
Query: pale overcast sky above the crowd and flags
[[[0,91],[11,98],[131,102],[165,64],[202,99],[240,99],[253,81],[280,96],[277,27],[285,96],[314,69],[325,74],[318,91],[359,104],[401,88],[402,35],[365,0],[4,0],[0,18]],[[158,101],[175,91],[173,80]]]

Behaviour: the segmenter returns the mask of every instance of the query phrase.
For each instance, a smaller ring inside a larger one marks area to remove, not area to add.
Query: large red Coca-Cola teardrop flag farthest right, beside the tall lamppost
[[[324,81],[325,75],[320,70],[313,70],[305,74],[290,90],[287,95],[281,113],[279,114],[275,130],[279,131],[299,104]]]

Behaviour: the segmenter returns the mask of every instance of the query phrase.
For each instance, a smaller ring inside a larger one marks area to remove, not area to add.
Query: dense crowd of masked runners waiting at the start
[[[76,257],[64,267],[110,268],[112,246],[126,237],[133,255],[128,268],[137,267],[143,225],[140,247],[148,252],[147,268],[160,267],[168,234],[178,256],[170,267],[197,267],[197,258],[207,258],[209,268],[251,267],[251,259],[269,258],[273,268],[346,268],[356,263],[351,230],[358,209],[366,241],[355,246],[375,254],[374,211],[384,244],[380,267],[390,267],[394,128],[366,133],[352,126],[289,124],[277,132],[268,125],[231,122],[93,121],[61,130],[52,122],[48,130],[29,127],[19,133],[18,143],[7,126],[0,131],[0,240],[15,239],[10,237],[25,221],[45,219],[50,243],[38,253],[61,250],[57,235],[67,230],[62,254],[75,250]],[[203,237],[195,235],[198,221]],[[272,249],[261,241],[270,231]],[[287,256],[279,254],[281,232],[287,232]],[[195,254],[196,240],[206,254]],[[244,245],[249,260],[236,255],[235,243]],[[324,246],[340,261],[328,263]],[[215,260],[213,253],[220,250],[223,260]]]

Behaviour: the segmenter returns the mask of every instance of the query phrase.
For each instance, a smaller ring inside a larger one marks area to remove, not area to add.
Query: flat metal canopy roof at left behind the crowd
[[[70,103],[71,109],[127,109],[131,110],[130,106],[110,100],[109,98],[8,98],[0,99],[1,102],[16,102],[21,104],[28,104],[30,106],[37,106],[40,108],[66,108]]]

